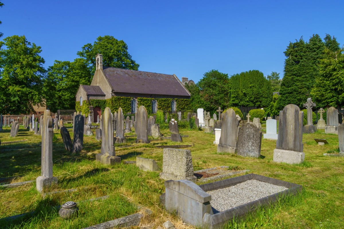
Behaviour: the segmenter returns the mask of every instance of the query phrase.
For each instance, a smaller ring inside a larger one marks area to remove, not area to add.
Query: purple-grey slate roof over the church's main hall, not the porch
[[[103,67],[114,92],[190,96],[175,75]]]

